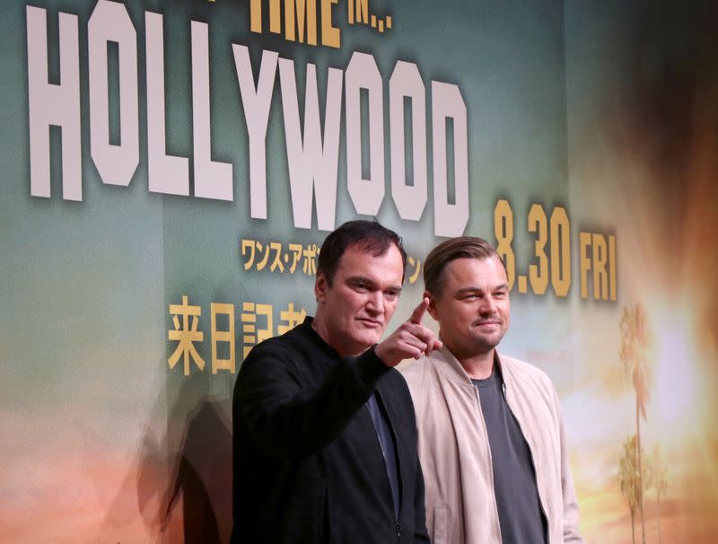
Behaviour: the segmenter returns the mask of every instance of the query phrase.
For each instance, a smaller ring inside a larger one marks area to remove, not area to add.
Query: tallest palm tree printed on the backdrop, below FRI
[[[645,420],[645,408],[651,399],[652,369],[646,357],[648,330],[645,311],[640,304],[624,308],[621,314],[621,363],[635,391],[635,449],[638,463],[638,489],[644,488],[643,461],[641,456],[641,418]],[[638,495],[641,513],[641,530],[645,544],[644,496]]]

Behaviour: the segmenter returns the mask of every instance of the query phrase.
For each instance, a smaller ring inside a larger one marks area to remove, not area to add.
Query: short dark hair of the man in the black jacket
[[[347,221],[330,233],[323,244],[321,244],[320,256],[317,259],[317,274],[320,272],[327,278],[331,285],[334,275],[337,273],[339,259],[345,251],[356,246],[374,257],[384,255],[391,244],[397,246],[401,254],[401,281],[404,282],[404,274],[407,271],[407,252],[401,243],[401,238],[394,231],[376,221]]]

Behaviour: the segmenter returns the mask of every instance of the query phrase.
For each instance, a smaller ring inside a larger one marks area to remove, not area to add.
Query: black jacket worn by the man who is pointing
[[[378,392],[398,457],[400,511],[364,403]],[[255,347],[234,386],[232,543],[428,542],[414,407],[373,349],[341,358],[311,318]]]

